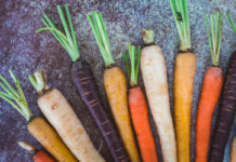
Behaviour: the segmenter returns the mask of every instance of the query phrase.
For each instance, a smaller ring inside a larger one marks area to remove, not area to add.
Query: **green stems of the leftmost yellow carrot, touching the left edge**
[[[10,70],[10,75],[15,83],[16,90],[0,75],[0,97],[8,102],[13,108],[15,108],[27,121],[32,118],[32,113],[29,110],[24,92],[19,85],[19,80],[15,78],[14,73]]]

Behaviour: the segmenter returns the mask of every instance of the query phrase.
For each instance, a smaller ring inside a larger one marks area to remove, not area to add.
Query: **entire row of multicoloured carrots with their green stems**
[[[123,53],[129,79],[129,86],[127,86],[124,73],[120,67],[115,65],[102,14],[91,12],[91,15],[88,15],[90,27],[105,63],[104,90],[115,122],[105,111],[89,64],[80,58],[68,5],[65,5],[65,14],[63,9],[57,5],[65,33],[56,28],[47,14],[43,14],[41,18],[45,27],[36,31],[38,33],[49,30],[71,58],[71,82],[95,121],[115,162],[158,161],[155,138],[148,121],[148,107],[159,134],[163,162],[191,162],[191,111],[196,55],[191,44],[187,2],[186,0],[169,1],[180,37],[180,49],[175,57],[173,76],[174,118],[170,111],[165,57],[161,49],[155,43],[153,30],[142,30],[145,44],[142,49],[128,43],[129,54]],[[236,33],[230,12],[227,12],[227,17]],[[211,66],[207,68],[202,79],[197,109],[195,161],[222,162],[236,111],[236,52],[231,56],[224,77],[223,69],[220,67],[223,14],[219,12],[215,15],[211,14],[210,21],[207,14],[204,14],[204,18]],[[147,100],[142,87],[139,86],[140,67]],[[28,79],[38,93],[39,108],[49,123],[41,117],[34,117],[19,80],[11,70],[10,75],[15,86],[12,86],[0,75],[0,97],[26,119],[30,134],[51,153],[50,156],[27,143],[18,141],[22,148],[32,154],[35,162],[105,161],[94,147],[66,97],[57,89],[48,85],[44,70],[37,70]],[[219,120],[211,146],[211,123],[221,92]],[[235,152],[236,138],[233,140],[232,162],[236,160]]]

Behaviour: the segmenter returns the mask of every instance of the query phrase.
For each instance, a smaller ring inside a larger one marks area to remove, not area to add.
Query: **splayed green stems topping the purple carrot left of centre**
[[[43,31],[43,30],[50,30],[52,35],[55,37],[55,39],[62,44],[65,51],[69,54],[73,62],[76,62],[79,59],[80,54],[79,54],[79,49],[78,49],[78,44],[76,40],[76,33],[73,27],[73,22],[69,15],[68,5],[65,4],[65,11],[66,11],[66,17],[68,21],[68,25],[66,24],[66,18],[60,5],[57,5],[57,11],[58,11],[61,21],[63,23],[63,28],[66,32],[66,36],[55,27],[53,22],[49,18],[49,16],[45,13],[43,14],[43,17],[41,18],[45,27],[38,29],[36,33]]]

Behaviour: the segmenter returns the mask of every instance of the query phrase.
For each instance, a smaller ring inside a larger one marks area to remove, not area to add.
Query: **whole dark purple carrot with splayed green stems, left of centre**
[[[69,16],[69,11],[67,5],[65,5],[65,10],[66,10],[67,19],[69,22],[69,28],[71,35],[68,31],[69,29],[67,24],[64,23],[63,26],[67,36],[65,36],[62,31],[57,30],[57,28],[55,27],[55,25],[52,23],[52,21],[49,18],[47,14],[44,14],[43,17],[41,18],[43,24],[47,26],[47,28],[41,28],[37,30],[37,32],[42,31],[44,29],[50,30],[53,33],[53,36],[58,40],[58,42],[62,44],[62,46],[65,49],[65,51],[68,52],[71,58],[71,65],[70,65],[71,81],[78,94],[80,95],[82,102],[84,103],[92,118],[94,119],[101,134],[103,135],[108,146],[108,149],[112,152],[114,161],[120,162],[126,159],[128,160],[129,157],[124,149],[122,140],[119,136],[119,133],[113,121],[108,118],[107,113],[105,112],[104,106],[102,105],[93,73],[88,63],[86,60],[80,59],[78,44],[77,44],[77,40],[76,40],[76,36],[75,36],[75,31],[73,28],[73,23]],[[62,22],[66,22],[65,16],[61,11],[60,6],[58,6],[58,13],[61,15]],[[64,43],[62,41],[64,38],[66,38],[68,42],[73,38],[71,45]],[[71,51],[70,49],[74,50]]]

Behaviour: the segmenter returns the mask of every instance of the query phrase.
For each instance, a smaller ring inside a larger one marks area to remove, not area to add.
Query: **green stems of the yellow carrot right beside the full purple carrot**
[[[92,19],[93,18],[93,19]],[[92,11],[92,15],[88,15],[88,19],[90,26],[92,28],[93,35],[96,39],[96,43],[100,46],[100,51],[103,55],[103,59],[105,62],[105,66],[110,66],[114,64],[110,46],[109,46],[109,39],[106,31],[106,26],[103,21],[103,16],[100,12]]]

